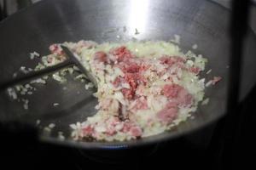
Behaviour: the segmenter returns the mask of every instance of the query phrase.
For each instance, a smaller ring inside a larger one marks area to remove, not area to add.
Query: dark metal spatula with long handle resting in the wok
[[[31,71],[27,74],[20,75],[20,77],[15,77],[15,79],[9,81],[9,82],[3,82],[0,84],[0,90],[6,89],[9,87],[12,87],[18,83],[21,82],[28,82],[29,80],[35,79],[37,77],[43,77],[44,75],[49,75],[52,72],[60,71],[61,69],[64,69],[66,67],[69,67],[71,65],[76,65],[79,70],[84,73],[85,77],[88,79],[88,81],[92,82],[95,87],[97,88],[97,82],[95,77],[93,77],[90,73],[90,71],[87,71],[84,68],[84,65],[82,65],[79,62],[79,59],[75,57],[75,55],[65,46],[61,45],[61,48],[63,49],[64,53],[67,55],[67,59],[60,64],[53,65],[50,67],[47,67],[45,69],[42,69],[40,71]]]

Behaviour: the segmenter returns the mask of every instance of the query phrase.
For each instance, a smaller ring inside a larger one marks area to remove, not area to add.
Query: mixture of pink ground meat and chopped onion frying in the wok
[[[200,72],[207,59],[190,51],[183,54],[172,42],[63,44],[77,54],[98,85],[97,112],[70,125],[73,139],[122,141],[163,133],[186,121],[204,99],[206,83]],[[51,45],[52,54],[44,56],[36,69],[65,60],[60,45]],[[65,82],[60,73],[53,78]],[[91,82],[85,85],[91,87]]]

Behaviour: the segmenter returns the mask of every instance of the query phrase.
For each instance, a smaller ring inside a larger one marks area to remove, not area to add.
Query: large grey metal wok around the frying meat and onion
[[[227,76],[229,60],[229,15],[230,12],[216,3],[204,0],[55,0],[36,3],[3,20],[0,23],[0,77],[8,81],[20,65],[34,67],[36,61],[29,59],[29,53],[49,54],[49,45],[55,42],[80,39],[96,42],[123,42],[137,40],[165,40],[174,34],[181,36],[181,48],[187,51],[198,44],[196,54],[203,54],[209,60],[206,71],[223,77],[216,87],[207,88],[208,105],[200,105],[193,113],[195,119],[183,122],[170,132],[145,139],[125,142],[75,142],[71,139],[57,139],[57,132],[67,136],[69,124],[82,122],[95,113],[96,99],[85,91],[83,84],[71,80],[66,84],[49,81],[44,87],[37,85],[37,91],[27,96],[29,110],[22,104],[11,101],[6,93],[0,96],[1,122],[19,120],[35,125],[41,119],[41,127],[55,123],[51,134],[39,133],[39,139],[54,144],[66,144],[85,149],[119,149],[131,146],[153,144],[166,139],[191,133],[224,116],[227,99]],[[127,31],[123,31],[124,26]],[[135,35],[135,29],[140,34]],[[249,34],[253,34],[252,31]],[[254,38],[253,36],[251,36]],[[255,42],[255,40],[252,40]],[[255,54],[248,48],[246,55]],[[67,87],[67,90],[63,90]],[[54,107],[53,103],[60,103]],[[37,127],[38,128],[38,127]]]

